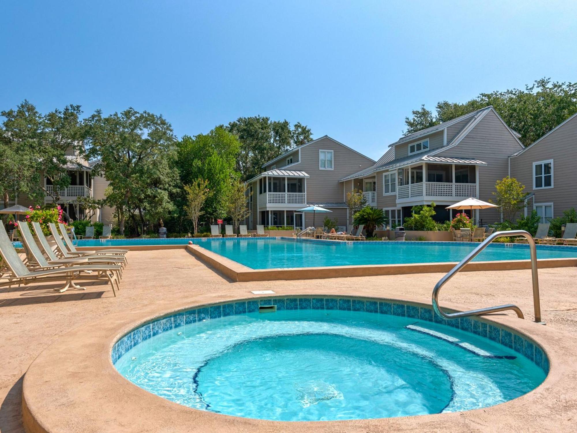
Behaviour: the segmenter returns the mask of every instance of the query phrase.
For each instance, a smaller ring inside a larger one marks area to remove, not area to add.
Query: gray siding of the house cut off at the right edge
[[[553,188],[533,189],[533,163],[553,159]],[[511,177],[535,194],[534,203],[553,203],[553,216],[577,208],[575,161],[577,160],[577,117],[554,130],[519,156],[512,156]],[[532,209],[529,209],[529,211]]]

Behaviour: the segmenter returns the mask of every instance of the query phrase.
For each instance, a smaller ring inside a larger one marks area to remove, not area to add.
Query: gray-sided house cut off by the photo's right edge
[[[577,114],[509,158],[511,177],[530,193],[524,214],[536,210],[541,222],[577,208]]]

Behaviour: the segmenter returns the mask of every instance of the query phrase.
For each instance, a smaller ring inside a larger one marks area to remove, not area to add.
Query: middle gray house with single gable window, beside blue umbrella
[[[325,216],[347,226],[348,208],[339,179],[374,165],[374,160],[325,135],[278,156],[263,165],[263,173],[246,182],[249,191],[249,229],[257,225],[313,225],[313,214],[298,212],[307,206],[327,208],[315,216],[320,226]]]

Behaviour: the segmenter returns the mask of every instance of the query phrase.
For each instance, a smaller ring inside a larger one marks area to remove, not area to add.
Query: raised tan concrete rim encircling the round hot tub
[[[247,290],[248,292],[248,290]],[[340,297],[376,299],[374,292],[310,293],[287,290],[275,297]],[[114,313],[63,335],[48,346],[30,365],[23,383],[23,420],[28,432],[138,431],[138,432],[366,432],[366,431],[526,431],[520,417],[534,423],[555,425],[560,416],[559,400],[575,404],[577,395],[576,345],[572,335],[549,329],[530,320],[509,315],[483,318],[497,327],[511,329],[541,346],[549,359],[544,382],[515,400],[484,409],[413,417],[350,421],[267,421],[220,415],[181,406],[133,385],[114,368],[114,342],[140,324],[183,309],[219,305],[230,301],[257,300],[271,296],[207,294],[198,300],[190,296],[179,301],[158,303]],[[384,301],[430,308],[418,298],[382,298]],[[452,311],[460,305],[443,304]],[[569,407],[571,405],[568,405]],[[562,409],[561,409],[562,410]],[[569,415],[569,414],[565,414]],[[481,427],[483,426],[483,427]],[[534,425],[535,426],[535,425]],[[541,427],[542,428],[542,427]]]

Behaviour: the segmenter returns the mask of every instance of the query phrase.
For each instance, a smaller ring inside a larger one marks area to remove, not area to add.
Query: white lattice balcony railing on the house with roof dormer
[[[453,184],[451,182],[419,182],[397,186],[397,203],[422,200],[448,200],[477,197],[477,184]]]

